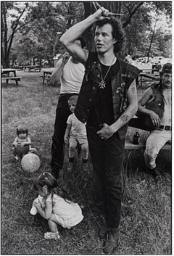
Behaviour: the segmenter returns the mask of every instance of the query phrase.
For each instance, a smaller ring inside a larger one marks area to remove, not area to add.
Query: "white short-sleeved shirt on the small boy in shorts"
[[[67,118],[67,124],[71,125],[70,136],[78,138],[86,136],[86,125],[80,122],[74,113]]]

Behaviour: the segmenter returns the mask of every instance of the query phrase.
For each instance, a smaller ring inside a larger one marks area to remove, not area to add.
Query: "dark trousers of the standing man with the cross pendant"
[[[102,185],[105,218],[110,228],[118,228],[123,197],[122,175],[125,140],[117,133],[104,141],[96,134],[100,129],[86,127],[94,172]]]

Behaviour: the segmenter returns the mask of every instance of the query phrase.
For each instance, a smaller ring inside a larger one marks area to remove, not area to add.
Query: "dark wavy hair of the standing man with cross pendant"
[[[112,26],[112,37],[117,40],[114,45],[114,52],[117,53],[123,48],[125,42],[125,33],[122,24],[115,17],[104,17],[102,20],[96,21],[94,29],[96,29],[96,26],[102,27],[105,24]]]

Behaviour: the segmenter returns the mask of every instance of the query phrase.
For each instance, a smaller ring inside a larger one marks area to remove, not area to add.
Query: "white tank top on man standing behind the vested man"
[[[62,59],[57,63],[57,67],[61,63]],[[70,57],[65,64],[62,77],[60,78],[60,94],[79,94],[84,74],[84,65],[72,62],[72,57]]]

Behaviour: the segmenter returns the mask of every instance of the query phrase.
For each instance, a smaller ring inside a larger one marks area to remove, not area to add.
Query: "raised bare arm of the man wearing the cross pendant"
[[[75,57],[83,65],[86,64],[88,58],[88,51],[81,49],[80,46],[75,44],[75,40],[78,39],[83,32],[101,18],[102,15],[107,15],[107,10],[103,7],[98,9],[93,15],[88,16],[85,20],[78,22],[67,30],[60,38],[60,41],[65,46],[72,57]]]

